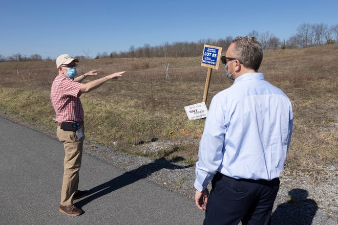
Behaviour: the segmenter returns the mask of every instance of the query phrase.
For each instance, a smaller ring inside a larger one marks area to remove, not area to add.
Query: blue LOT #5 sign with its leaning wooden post
[[[203,93],[203,102],[206,102],[209,91],[210,78],[213,72],[213,69],[218,70],[218,66],[220,64],[222,48],[215,46],[208,46],[204,44],[203,56],[202,56],[202,66],[208,68],[208,72],[206,74],[204,93]]]

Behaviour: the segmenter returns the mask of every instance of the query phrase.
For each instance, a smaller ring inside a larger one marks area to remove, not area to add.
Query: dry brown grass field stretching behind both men
[[[168,79],[164,63],[169,64]],[[184,106],[202,101],[207,68],[200,64],[201,57],[81,61],[79,74],[95,69],[100,77],[126,71],[119,80],[81,96],[87,140],[129,154],[196,162],[204,120],[189,121]],[[313,171],[321,165],[336,166],[338,45],[265,51],[260,72],[293,105],[294,131],[286,167]],[[55,61],[0,62],[0,114],[53,134],[55,113],[49,92],[56,75]],[[213,70],[207,106],[231,83],[220,64],[219,70]],[[154,137],[164,147],[134,146]]]

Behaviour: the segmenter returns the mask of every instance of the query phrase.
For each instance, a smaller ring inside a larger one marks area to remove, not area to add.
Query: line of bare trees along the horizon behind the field
[[[328,26],[326,24],[302,24],[297,28],[297,33],[287,40],[281,40],[270,32],[259,33],[252,30],[248,33],[249,36],[256,37],[262,44],[263,49],[295,49],[308,48],[313,46],[323,46],[325,44],[336,44],[338,42],[338,24]],[[222,47],[227,49],[234,37],[227,36],[225,39],[201,39],[197,42],[174,42],[172,44],[166,42],[161,46],[150,46],[144,44],[143,47],[135,48],[131,46],[129,51],[116,52],[110,54],[107,52],[98,53],[95,59],[99,58],[140,58],[140,57],[194,57],[200,56],[201,49],[204,44],[211,46]],[[85,55],[75,56],[80,60],[91,59],[89,50],[83,51]],[[50,57],[43,59],[39,54],[33,54],[29,57],[20,53],[13,54],[9,57],[4,57],[0,54],[1,61],[42,61],[52,60]]]

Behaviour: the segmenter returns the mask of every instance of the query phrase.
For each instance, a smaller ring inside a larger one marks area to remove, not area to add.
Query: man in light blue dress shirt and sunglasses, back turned
[[[237,37],[221,59],[235,81],[210,103],[196,163],[196,205],[206,210],[204,225],[270,224],[291,140],[291,102],[258,73],[263,51],[255,37]]]

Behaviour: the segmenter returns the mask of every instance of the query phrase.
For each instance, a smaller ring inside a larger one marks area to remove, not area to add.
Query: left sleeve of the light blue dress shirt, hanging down
[[[194,187],[198,191],[206,189],[223,160],[226,123],[222,103],[215,97],[209,107],[196,163]]]

